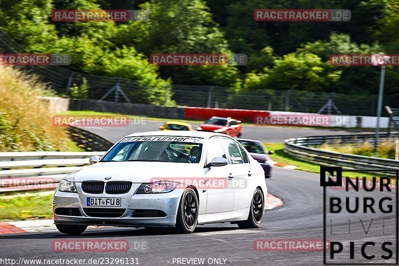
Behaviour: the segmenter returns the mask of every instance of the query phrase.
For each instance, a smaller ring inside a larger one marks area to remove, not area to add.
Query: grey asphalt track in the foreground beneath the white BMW
[[[236,225],[216,224],[200,226],[191,235],[173,235],[168,232],[146,229],[101,228],[89,229],[82,236],[70,237],[60,233],[27,233],[0,237],[0,257],[24,259],[98,259],[138,258],[140,265],[178,265],[177,258],[224,258],[226,265],[321,265],[323,252],[320,251],[255,251],[254,241],[258,239],[323,239],[323,195],[320,177],[289,169],[274,169],[274,176],[267,180],[270,193],[285,201],[281,207],[267,211],[259,229],[239,230]],[[328,193],[342,194],[331,190]],[[358,192],[361,193],[361,192]],[[374,192],[377,199],[384,192]],[[371,237],[381,239],[395,229],[395,219],[387,220],[385,229],[378,225],[382,217],[376,217],[368,235],[359,220],[352,218],[351,233],[347,230],[347,215],[334,223],[334,237],[345,241],[364,241]],[[358,215],[358,218],[361,217]],[[364,217],[363,217],[364,218]],[[392,218],[392,217],[391,217]],[[358,222],[356,222],[358,220]],[[365,221],[364,226],[369,226]],[[376,225],[376,226],[375,226]],[[329,238],[329,235],[327,236]],[[128,252],[54,252],[52,242],[57,240],[126,240]],[[136,245],[136,249],[135,249]],[[143,247],[144,245],[144,247]],[[395,245],[395,244],[394,244]],[[139,248],[141,247],[141,248]],[[143,247],[143,249],[142,249]],[[348,245],[345,245],[348,247]],[[373,249],[368,249],[372,251]],[[395,251],[395,249],[393,249]],[[348,262],[348,251],[343,263]],[[355,258],[360,255],[357,248]],[[381,254],[381,250],[380,250]],[[394,253],[395,254],[395,253]],[[357,261],[358,259],[355,259]],[[223,261],[223,260],[222,260]],[[215,264],[212,264],[215,265]],[[217,265],[217,264],[216,264]],[[220,265],[220,264],[219,264]],[[222,264],[223,265],[223,264]]]

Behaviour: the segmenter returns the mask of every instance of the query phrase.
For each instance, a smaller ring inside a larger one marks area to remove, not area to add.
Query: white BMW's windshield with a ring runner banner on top
[[[101,162],[199,163],[202,139],[190,137],[128,137],[121,140]]]

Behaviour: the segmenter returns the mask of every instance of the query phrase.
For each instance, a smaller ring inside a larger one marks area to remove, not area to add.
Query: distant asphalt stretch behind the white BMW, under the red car
[[[132,121],[131,121],[132,122]],[[133,122],[134,123],[134,122]],[[144,124],[145,123],[145,124]],[[134,133],[159,130],[165,121],[145,120],[143,124],[131,124],[127,127],[85,127],[95,134],[106,137],[110,141],[116,142],[122,137]],[[196,129],[200,124],[191,124]],[[116,129],[116,130],[115,130]],[[262,142],[283,142],[285,139],[318,136],[318,135],[343,135],[355,134],[353,130],[342,129],[312,129],[312,128],[293,128],[293,127],[266,127],[266,126],[243,126],[243,138],[257,139]]]

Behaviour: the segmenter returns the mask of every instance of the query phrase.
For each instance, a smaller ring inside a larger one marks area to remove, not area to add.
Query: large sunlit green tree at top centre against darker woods
[[[150,19],[121,25],[119,42],[133,41],[138,51],[153,53],[222,53],[227,41],[202,0],[153,0],[140,5]],[[231,86],[239,79],[234,66],[162,66],[161,76],[174,83]]]

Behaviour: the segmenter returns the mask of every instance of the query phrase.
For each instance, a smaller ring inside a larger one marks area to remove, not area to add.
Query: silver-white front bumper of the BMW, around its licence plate
[[[176,225],[181,195],[182,190],[162,194],[132,193],[128,195],[85,195],[81,192],[69,193],[57,190],[53,197],[54,223],[120,227],[171,227]],[[90,207],[86,205],[87,197],[121,198],[121,207]],[[64,210],[71,208],[73,208],[73,212],[64,212]],[[63,212],[60,210],[63,210]],[[113,212],[114,210],[121,212],[121,215],[105,217],[109,216],[105,214],[104,217],[101,217],[102,214],[93,214],[93,212]]]

